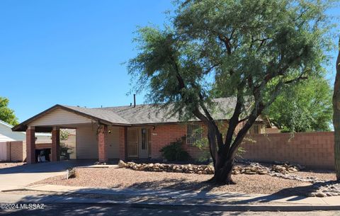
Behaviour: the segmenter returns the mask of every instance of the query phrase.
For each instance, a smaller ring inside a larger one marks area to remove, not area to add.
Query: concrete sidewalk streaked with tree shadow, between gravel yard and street
[[[82,199],[84,202],[120,203],[137,205],[172,206],[215,206],[229,205],[251,209],[258,206],[268,210],[340,210],[340,197],[306,198],[303,196],[282,197],[278,195],[215,193],[210,191],[171,191],[135,190],[121,188],[89,188],[74,186],[38,185],[23,188],[26,191],[55,193],[71,201]],[[86,201],[86,199],[89,199]],[[252,207],[251,207],[252,206]]]

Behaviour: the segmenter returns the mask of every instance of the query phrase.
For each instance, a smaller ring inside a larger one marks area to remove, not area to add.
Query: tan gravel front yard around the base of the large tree
[[[297,172],[295,175],[314,176],[320,179],[334,180],[335,174]],[[78,168],[76,178],[64,179],[55,176],[35,184],[47,183],[65,186],[89,186],[101,188],[154,188],[179,190],[208,190],[243,193],[278,193],[282,195],[305,195],[312,187],[311,183],[272,177],[269,175],[236,175],[232,178],[237,183],[230,186],[211,187],[208,181],[212,175],[146,172],[118,168]]]

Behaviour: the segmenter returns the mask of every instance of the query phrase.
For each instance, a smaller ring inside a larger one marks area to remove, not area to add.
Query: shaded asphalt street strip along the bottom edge
[[[43,209],[35,210],[0,210],[0,215],[38,215],[38,216],[55,216],[55,215],[273,215],[273,216],[340,216],[340,211],[313,211],[313,212],[220,212],[220,211],[202,211],[202,210],[164,210],[152,208],[127,208],[119,205],[106,204],[76,204],[60,203],[47,204]]]

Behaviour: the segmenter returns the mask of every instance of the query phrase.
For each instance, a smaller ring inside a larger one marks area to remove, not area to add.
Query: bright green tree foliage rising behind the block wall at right
[[[331,95],[326,79],[310,78],[284,89],[265,113],[282,132],[329,131]]]

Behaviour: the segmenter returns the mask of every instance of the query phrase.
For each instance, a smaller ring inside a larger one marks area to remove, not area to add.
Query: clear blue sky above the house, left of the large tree
[[[0,96],[20,121],[56,103],[129,105],[122,63],[136,55],[133,32],[162,25],[171,8],[168,0],[1,0]]]

